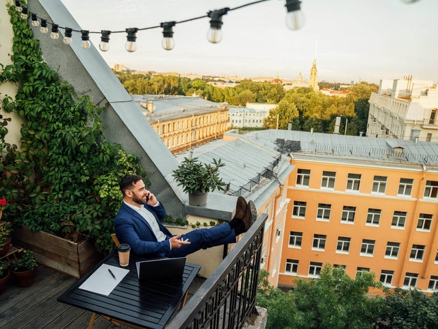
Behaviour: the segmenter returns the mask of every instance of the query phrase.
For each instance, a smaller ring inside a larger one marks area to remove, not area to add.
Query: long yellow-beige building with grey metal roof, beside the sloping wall
[[[228,125],[228,103],[214,103],[196,96],[133,95],[170,152],[222,138]]]

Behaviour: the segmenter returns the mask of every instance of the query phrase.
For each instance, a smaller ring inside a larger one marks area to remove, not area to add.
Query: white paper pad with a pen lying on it
[[[108,269],[111,269],[111,272],[116,278],[113,278]],[[79,289],[107,296],[110,295],[111,291],[117,287],[128,273],[129,269],[102,264],[101,267],[96,269],[96,272],[91,274],[90,277],[79,286]]]

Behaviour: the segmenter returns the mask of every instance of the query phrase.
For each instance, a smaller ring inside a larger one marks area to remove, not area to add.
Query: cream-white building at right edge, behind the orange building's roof
[[[370,97],[367,136],[438,142],[438,90],[433,81],[381,80]]]

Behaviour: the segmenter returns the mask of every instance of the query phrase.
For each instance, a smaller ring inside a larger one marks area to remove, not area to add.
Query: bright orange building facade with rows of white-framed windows
[[[438,290],[437,168],[296,154],[291,163],[279,287],[330,263],[387,287]]]

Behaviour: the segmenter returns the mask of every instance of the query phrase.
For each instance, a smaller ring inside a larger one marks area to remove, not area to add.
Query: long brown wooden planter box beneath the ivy
[[[12,241],[16,246],[32,250],[38,263],[73,278],[80,278],[103,258],[90,241],[77,244],[42,231],[30,231],[25,226],[14,228]]]

